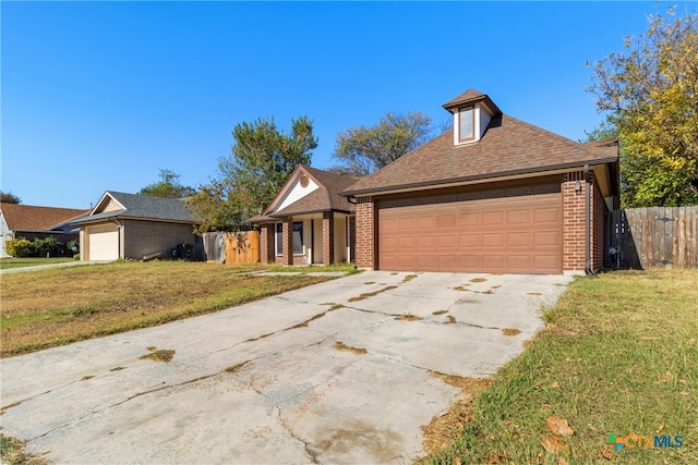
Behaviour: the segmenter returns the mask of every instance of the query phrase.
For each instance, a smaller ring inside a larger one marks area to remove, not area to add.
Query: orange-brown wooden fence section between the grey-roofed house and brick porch
[[[210,232],[202,234],[204,259],[218,264],[254,264],[260,261],[257,231]]]

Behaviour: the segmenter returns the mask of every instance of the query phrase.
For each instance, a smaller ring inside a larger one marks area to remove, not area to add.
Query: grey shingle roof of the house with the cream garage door
[[[116,207],[105,210],[112,200]],[[77,218],[73,223],[84,224],[117,218],[194,222],[191,210],[182,199],[107,191],[89,215]]]

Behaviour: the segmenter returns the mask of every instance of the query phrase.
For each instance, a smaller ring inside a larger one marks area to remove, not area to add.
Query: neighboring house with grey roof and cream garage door
[[[194,221],[183,200],[106,192],[80,227],[81,260],[142,259],[194,244]]]

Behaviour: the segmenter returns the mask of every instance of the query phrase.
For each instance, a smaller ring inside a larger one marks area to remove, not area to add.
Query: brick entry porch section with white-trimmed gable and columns
[[[266,210],[250,220],[260,225],[261,261],[352,261],[354,205],[339,192],[356,182],[353,178],[299,166]]]

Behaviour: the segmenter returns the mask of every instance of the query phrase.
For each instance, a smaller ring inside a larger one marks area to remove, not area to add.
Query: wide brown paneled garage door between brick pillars
[[[378,268],[561,273],[559,183],[378,203]]]

